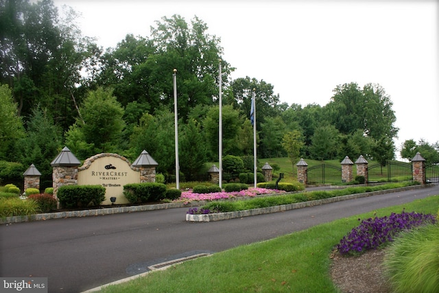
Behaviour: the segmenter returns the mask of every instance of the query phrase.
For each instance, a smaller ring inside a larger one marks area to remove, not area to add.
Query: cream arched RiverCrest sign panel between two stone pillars
[[[132,169],[130,163],[119,154],[97,154],[86,159],[78,168],[78,185],[101,185],[105,187],[105,201],[116,198],[115,204],[126,204],[123,185],[140,183],[139,172]]]

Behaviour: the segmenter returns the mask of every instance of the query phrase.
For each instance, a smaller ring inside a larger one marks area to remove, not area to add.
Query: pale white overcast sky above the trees
[[[82,34],[116,47],[161,17],[198,16],[221,39],[232,78],[274,86],[281,102],[327,104],[339,84],[380,84],[393,102],[396,148],[439,141],[438,1],[54,0],[82,13]],[[171,73],[169,74],[171,78]],[[357,158],[353,158],[357,159]]]

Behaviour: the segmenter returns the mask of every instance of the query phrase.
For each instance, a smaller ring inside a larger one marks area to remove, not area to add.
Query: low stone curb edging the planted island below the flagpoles
[[[387,189],[380,191],[365,192],[364,194],[349,194],[347,196],[336,196],[334,198],[325,198],[322,200],[311,200],[308,202],[297,202],[294,204],[283,204],[274,207],[265,207],[261,209],[248,209],[246,211],[230,211],[227,213],[208,213],[204,215],[189,215],[186,214],[187,222],[214,222],[222,220],[230,220],[233,218],[249,217],[251,215],[263,215],[265,213],[277,213],[279,211],[289,211],[292,209],[302,209],[304,207],[313,207],[320,204],[329,204],[331,202],[340,202],[342,200],[352,200],[355,198],[365,198],[367,196],[377,196],[379,194],[389,194],[396,191],[405,191],[410,189],[420,189],[429,185],[414,185],[408,187],[401,187],[396,189]]]

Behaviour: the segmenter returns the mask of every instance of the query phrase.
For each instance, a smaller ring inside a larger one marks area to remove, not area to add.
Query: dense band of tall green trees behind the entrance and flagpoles
[[[288,105],[264,80],[232,80],[235,69],[222,58],[220,38],[197,16],[189,23],[163,16],[150,36],[127,34],[107,49],[82,35],[78,16],[67,6],[58,11],[51,0],[0,0],[0,161],[34,163],[49,181],[49,163],[64,145],[80,160],[116,152],[133,161],[147,150],[157,172],[172,174],[174,69],[180,169],[187,180],[218,160],[219,78],[224,154],[252,155],[255,91],[260,158],[394,158],[396,116],[379,84],[337,85],[325,106]],[[411,152],[401,152],[409,159],[420,146],[439,150],[438,143],[410,143]]]

